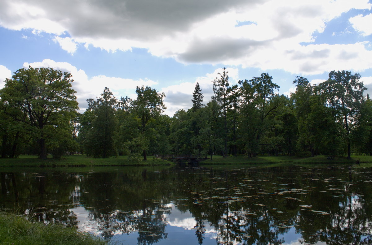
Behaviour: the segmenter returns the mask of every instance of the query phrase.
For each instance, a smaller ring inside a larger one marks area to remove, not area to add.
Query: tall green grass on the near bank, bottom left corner
[[[0,244],[14,245],[107,245],[108,243],[62,225],[32,223],[22,216],[0,213]]]

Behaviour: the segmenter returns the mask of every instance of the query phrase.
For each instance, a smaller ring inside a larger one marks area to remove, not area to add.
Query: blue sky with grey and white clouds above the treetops
[[[269,73],[279,94],[330,71],[372,91],[372,0],[0,0],[0,88],[20,68],[73,75],[80,111],[105,87],[164,92],[165,114],[204,103],[226,67],[230,85]]]

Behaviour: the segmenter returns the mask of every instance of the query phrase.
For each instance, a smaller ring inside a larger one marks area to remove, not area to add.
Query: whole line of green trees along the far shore
[[[249,157],[352,153],[372,155],[372,102],[358,73],[331,71],[312,85],[297,76],[290,97],[268,73],[230,85],[226,68],[203,104],[197,83],[192,107],[163,114],[165,94],[149,86],[137,98],[115,98],[105,88],[78,113],[70,73],[22,68],[0,90],[1,157],[67,153],[92,157],[128,155],[132,161],[154,154],[214,154]]]

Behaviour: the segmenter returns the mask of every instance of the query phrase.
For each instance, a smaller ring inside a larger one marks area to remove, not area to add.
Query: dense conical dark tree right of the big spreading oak
[[[94,157],[110,157],[116,152],[114,147],[117,126],[115,111],[119,102],[107,87],[103,89],[97,101],[94,99],[87,99],[87,101],[87,111],[93,112],[93,119],[86,135],[86,153]]]

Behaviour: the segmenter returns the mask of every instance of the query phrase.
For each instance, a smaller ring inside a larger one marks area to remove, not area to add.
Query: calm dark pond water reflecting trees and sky
[[[371,168],[74,170],[0,169],[0,207],[118,244],[372,244]]]

